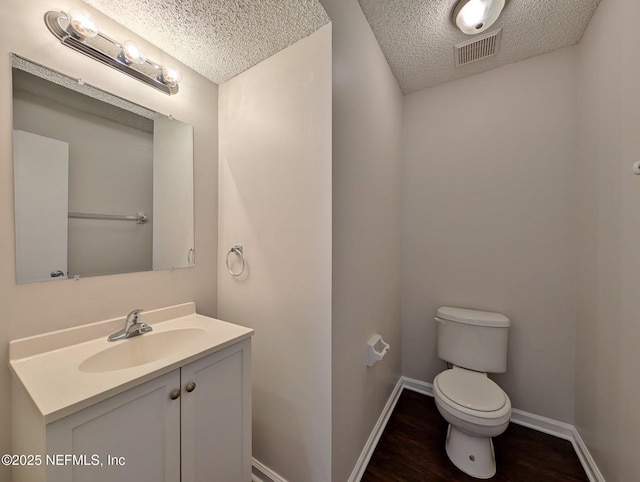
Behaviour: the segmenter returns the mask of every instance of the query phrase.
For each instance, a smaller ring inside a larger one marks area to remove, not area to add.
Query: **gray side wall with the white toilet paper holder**
[[[331,480],[344,481],[400,375],[402,94],[358,2],[321,3],[333,22]],[[367,367],[375,333],[391,349]]]

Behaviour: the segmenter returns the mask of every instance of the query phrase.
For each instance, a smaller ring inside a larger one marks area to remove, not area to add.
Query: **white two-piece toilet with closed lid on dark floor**
[[[501,313],[448,306],[435,321],[438,357],[452,365],[433,380],[436,407],[449,422],[447,455],[466,474],[489,479],[496,473],[491,437],[507,429],[511,401],[487,373],[507,371],[511,322]]]

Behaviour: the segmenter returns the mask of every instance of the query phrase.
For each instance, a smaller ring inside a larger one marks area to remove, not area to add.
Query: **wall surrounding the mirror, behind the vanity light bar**
[[[80,0],[74,5],[89,9]],[[46,10],[61,8],[50,0],[8,0],[0,17],[0,452],[10,453],[10,373],[8,343],[46,331],[121,316],[141,307],[152,309],[195,300],[198,311],[216,314],[217,250],[217,87],[184,69],[180,93],[174,97],[155,91],[126,75],[60,44],[43,24]],[[116,38],[137,37],[113,21],[94,13],[105,31]],[[28,32],[26,35],[25,32]],[[137,39],[140,40],[140,39]],[[153,46],[146,51],[163,58]],[[36,62],[83,78],[195,128],[195,269],[145,272],[115,276],[16,285],[13,229],[13,169],[11,150],[11,61],[15,52]],[[0,479],[9,479],[0,467]]]

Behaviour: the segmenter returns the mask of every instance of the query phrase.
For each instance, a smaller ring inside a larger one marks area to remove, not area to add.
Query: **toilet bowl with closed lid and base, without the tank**
[[[511,401],[485,373],[453,367],[433,381],[436,407],[449,423],[445,448],[460,470],[480,479],[496,473],[491,437],[509,426]]]

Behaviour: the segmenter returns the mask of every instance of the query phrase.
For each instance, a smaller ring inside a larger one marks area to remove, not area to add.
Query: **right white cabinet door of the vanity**
[[[251,480],[250,343],[181,369],[182,482]]]

